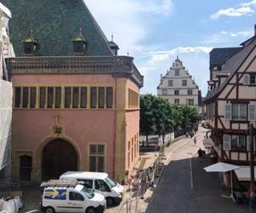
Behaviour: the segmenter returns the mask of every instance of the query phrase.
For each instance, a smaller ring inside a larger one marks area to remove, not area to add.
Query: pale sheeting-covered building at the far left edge
[[[10,148],[13,89],[5,64],[7,57],[15,56],[8,35],[8,22],[11,15],[9,9],[0,3],[0,181],[10,181],[11,168]]]

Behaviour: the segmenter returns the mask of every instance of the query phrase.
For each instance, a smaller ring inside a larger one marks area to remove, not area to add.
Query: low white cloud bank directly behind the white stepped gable
[[[142,47],[140,48],[143,49]],[[211,47],[177,47],[175,49],[164,50],[142,50],[143,56],[147,59],[146,63],[137,62],[137,67],[144,75],[144,87],[142,93],[151,93],[156,95],[156,87],[160,83],[160,74],[165,75],[166,70],[172,66],[172,61],[177,55],[183,61],[183,65],[189,70],[189,73],[195,78],[203,95],[206,95],[207,80],[209,76],[209,52]]]

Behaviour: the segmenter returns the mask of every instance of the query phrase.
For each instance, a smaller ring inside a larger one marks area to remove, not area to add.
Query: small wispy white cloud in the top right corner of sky
[[[211,15],[212,20],[218,20],[220,16],[242,16],[245,14],[252,14],[254,10],[250,7],[240,7],[240,8],[230,8],[230,9],[220,9],[217,13]]]

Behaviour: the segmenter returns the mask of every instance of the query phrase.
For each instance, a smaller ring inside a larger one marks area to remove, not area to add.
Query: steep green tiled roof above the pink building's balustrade
[[[86,55],[113,55],[108,40],[83,0],[2,0],[13,17],[9,21],[10,39],[17,56],[29,28],[40,44],[39,55],[72,55],[79,28],[88,42]]]

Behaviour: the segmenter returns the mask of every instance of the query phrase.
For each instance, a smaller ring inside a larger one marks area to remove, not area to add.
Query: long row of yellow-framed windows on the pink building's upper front
[[[90,107],[90,88],[96,88],[96,107]],[[103,89],[99,106],[99,89]],[[49,90],[50,95],[49,95]],[[17,85],[14,88],[14,109],[113,109],[113,86],[108,85]],[[68,95],[67,95],[68,92]],[[133,104],[139,107],[139,95],[134,95]]]

